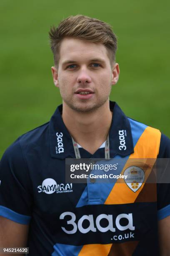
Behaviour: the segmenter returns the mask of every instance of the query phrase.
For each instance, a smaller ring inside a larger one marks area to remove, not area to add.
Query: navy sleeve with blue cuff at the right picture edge
[[[161,135],[158,158],[166,158],[163,170],[166,183],[164,179],[163,183],[157,184],[158,220],[162,220],[170,215],[170,139],[164,134]]]

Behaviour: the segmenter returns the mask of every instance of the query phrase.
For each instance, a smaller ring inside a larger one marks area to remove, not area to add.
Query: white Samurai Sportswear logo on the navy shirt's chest
[[[46,194],[56,193],[69,193],[72,192],[72,183],[57,184],[54,179],[48,178],[42,182],[42,186],[38,186],[38,193],[45,192]]]

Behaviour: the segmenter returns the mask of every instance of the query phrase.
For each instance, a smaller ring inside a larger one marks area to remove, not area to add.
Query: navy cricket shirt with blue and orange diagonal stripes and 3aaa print
[[[0,215],[30,225],[29,256],[159,255],[158,220],[170,215],[170,185],[146,182],[152,168],[136,165],[138,159],[170,158],[170,140],[128,118],[115,102],[110,110],[110,158],[123,163],[113,172],[127,174],[128,182],[65,182],[65,159],[75,159],[75,149],[62,105],[2,156]],[[103,146],[93,155],[79,151],[81,159],[105,158]]]

